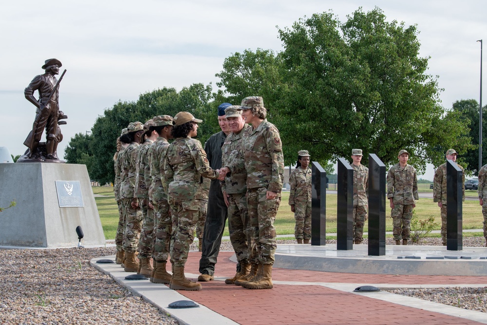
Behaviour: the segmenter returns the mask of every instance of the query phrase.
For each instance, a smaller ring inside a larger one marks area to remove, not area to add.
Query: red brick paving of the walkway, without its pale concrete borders
[[[216,276],[231,277],[235,263],[231,252],[220,252]],[[201,253],[191,252],[187,273],[198,273]],[[274,281],[333,282],[357,284],[485,284],[486,276],[407,276],[352,274],[273,269]],[[202,283],[201,291],[178,291],[225,317],[253,324],[479,324],[423,309],[347,293],[318,285],[274,285],[271,290],[250,290],[223,281]],[[487,319],[487,315],[486,315]]]

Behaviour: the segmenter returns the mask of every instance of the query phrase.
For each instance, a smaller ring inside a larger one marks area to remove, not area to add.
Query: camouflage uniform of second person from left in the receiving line
[[[140,123],[140,122],[138,122]],[[142,125],[142,123],[140,123]],[[139,207],[132,208],[131,202],[135,197],[136,153],[139,144],[132,142],[123,153],[120,197],[125,213],[125,228],[123,231],[123,249],[134,253],[139,245],[139,236],[142,226],[142,211]]]

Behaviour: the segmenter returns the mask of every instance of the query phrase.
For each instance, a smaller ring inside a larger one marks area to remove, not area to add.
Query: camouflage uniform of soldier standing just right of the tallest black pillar
[[[394,240],[410,239],[410,225],[414,200],[418,200],[418,180],[416,170],[411,165],[402,168],[394,165],[387,173],[387,198],[393,199],[394,208],[391,210],[393,218]]]

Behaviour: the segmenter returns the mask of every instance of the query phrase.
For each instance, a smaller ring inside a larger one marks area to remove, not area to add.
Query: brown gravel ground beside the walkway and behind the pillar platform
[[[291,243],[296,241],[278,240]],[[392,238],[387,244],[393,244]],[[422,245],[441,245],[441,239],[428,238]],[[463,242],[464,247],[484,245],[482,237],[465,237]],[[191,249],[197,249],[197,242]],[[221,250],[232,250],[230,242],[223,241]],[[113,254],[114,248],[0,249],[0,324],[177,324],[89,265],[92,258]],[[487,287],[391,292],[487,312]]]

